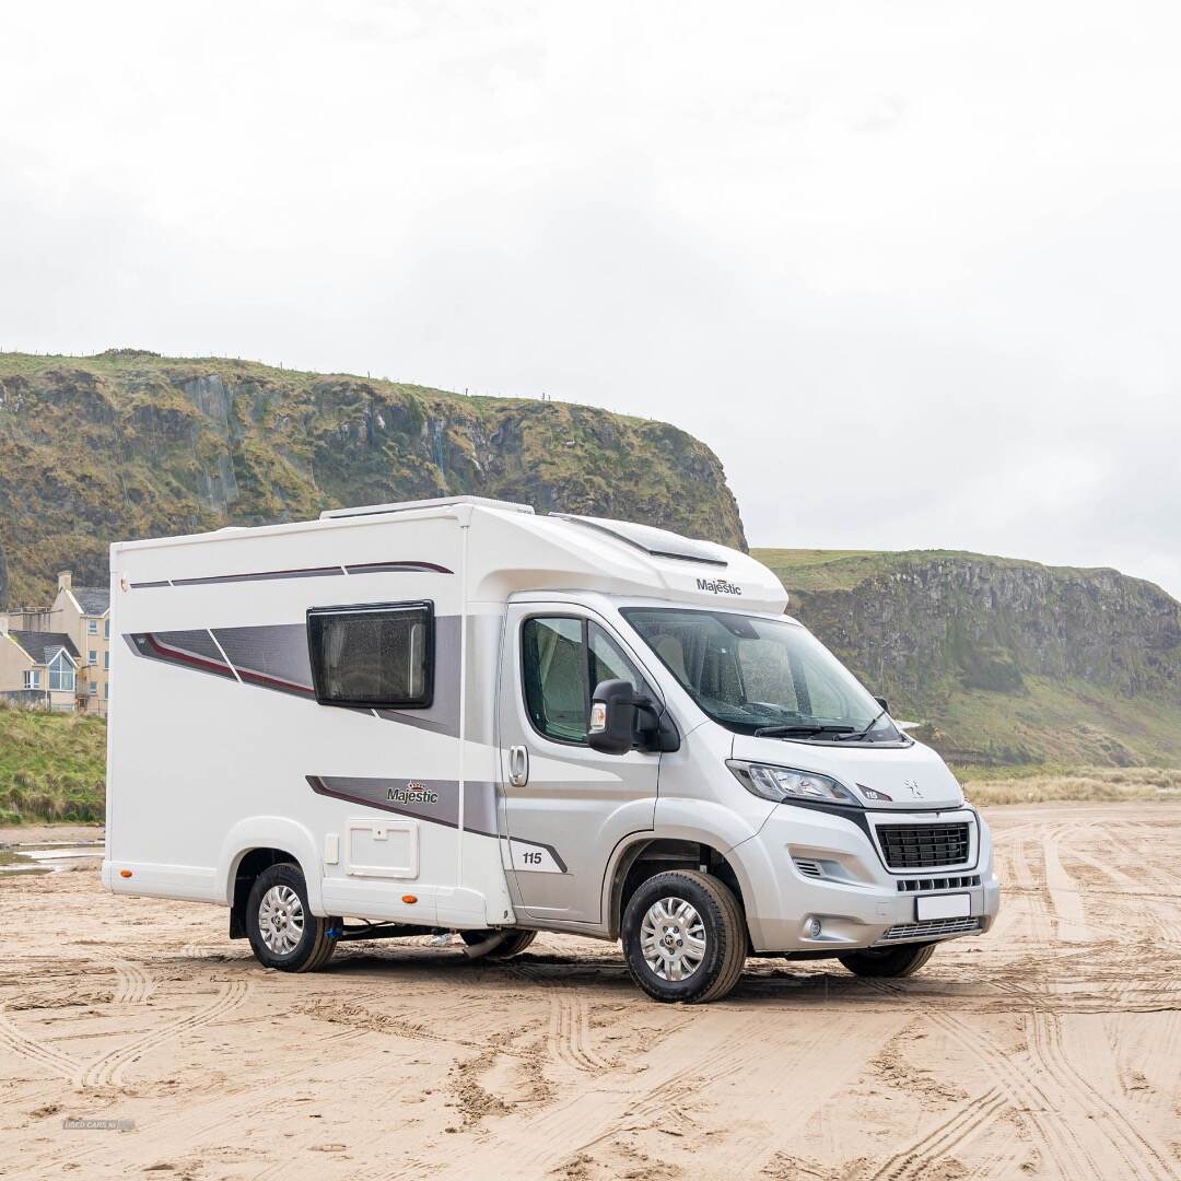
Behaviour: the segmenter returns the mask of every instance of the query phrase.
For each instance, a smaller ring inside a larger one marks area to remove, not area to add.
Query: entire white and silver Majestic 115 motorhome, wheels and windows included
[[[266,965],[622,940],[906,976],[997,914],[987,826],[746,554],[476,497],[111,548],[107,860]]]

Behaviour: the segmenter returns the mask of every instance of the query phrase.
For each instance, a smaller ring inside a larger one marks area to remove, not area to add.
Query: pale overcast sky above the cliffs
[[[1181,17],[1110,4],[0,13],[0,346],[664,418],[752,544],[1181,595]]]

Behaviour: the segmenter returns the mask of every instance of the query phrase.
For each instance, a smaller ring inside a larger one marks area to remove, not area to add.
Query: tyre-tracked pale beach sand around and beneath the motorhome
[[[698,1007],[588,940],[285,976],[223,911],[115,899],[92,864],[0,879],[0,1174],[1181,1176],[1181,809],[990,818],[986,937],[908,980],[752,959]]]

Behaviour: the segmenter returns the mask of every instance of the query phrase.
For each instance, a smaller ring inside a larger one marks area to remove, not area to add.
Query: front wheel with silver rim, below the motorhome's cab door
[[[699,944],[686,952],[690,934]],[[627,970],[653,1000],[720,1000],[742,977],[748,941],[746,920],[730,888],[693,869],[648,877],[624,911]]]

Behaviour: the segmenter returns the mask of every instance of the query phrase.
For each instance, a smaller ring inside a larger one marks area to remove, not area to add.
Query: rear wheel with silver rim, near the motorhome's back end
[[[307,885],[299,866],[268,866],[254,880],[246,903],[246,933],[254,955],[280,972],[315,972],[337,950],[328,932],[340,919],[312,914]]]

